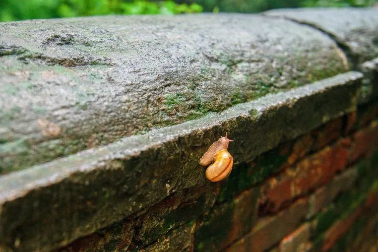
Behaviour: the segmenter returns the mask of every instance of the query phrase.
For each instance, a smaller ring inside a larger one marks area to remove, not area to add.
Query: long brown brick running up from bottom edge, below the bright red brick
[[[259,220],[249,234],[232,244],[227,251],[264,251],[295,230],[307,211],[308,199],[299,199],[277,215]]]

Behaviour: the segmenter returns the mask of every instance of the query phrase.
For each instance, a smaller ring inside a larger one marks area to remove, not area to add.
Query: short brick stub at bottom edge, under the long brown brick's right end
[[[280,252],[306,251],[310,238],[310,224],[304,223],[294,232],[286,235],[280,243]]]

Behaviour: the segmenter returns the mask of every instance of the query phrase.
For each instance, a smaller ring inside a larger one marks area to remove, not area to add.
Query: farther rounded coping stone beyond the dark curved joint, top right
[[[265,14],[307,24],[329,34],[355,67],[378,57],[377,8],[279,9]]]

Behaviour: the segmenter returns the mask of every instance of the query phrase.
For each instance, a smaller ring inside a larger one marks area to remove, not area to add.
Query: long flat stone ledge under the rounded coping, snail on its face
[[[361,80],[349,72],[3,175],[0,246],[55,248],[178,190],[211,183],[198,160],[220,135],[234,139],[236,164],[253,159],[354,110]]]

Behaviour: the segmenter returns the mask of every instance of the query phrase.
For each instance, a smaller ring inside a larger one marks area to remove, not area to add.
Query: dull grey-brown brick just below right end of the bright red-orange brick
[[[313,193],[309,198],[310,209],[308,217],[312,217],[330,204],[340,192],[348,190],[356,181],[357,176],[357,167],[349,168]]]

